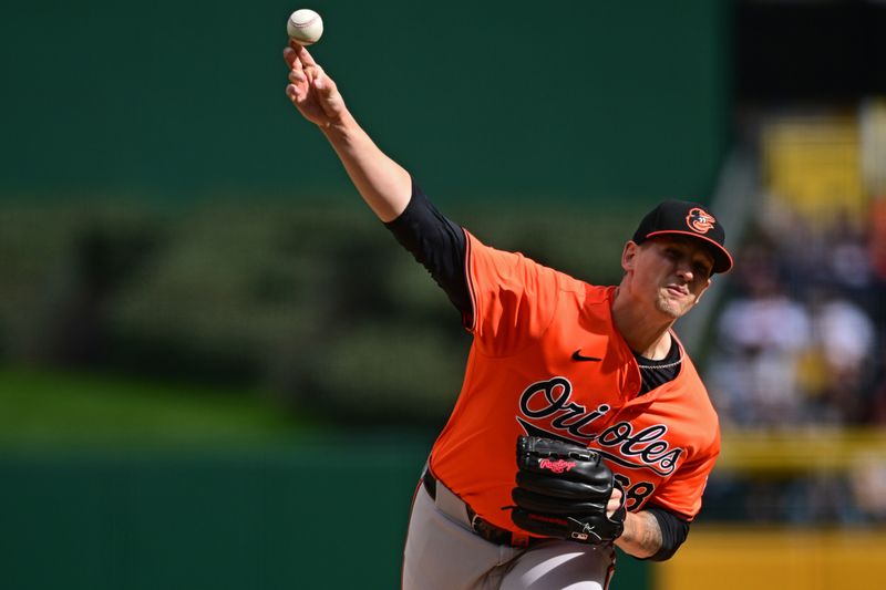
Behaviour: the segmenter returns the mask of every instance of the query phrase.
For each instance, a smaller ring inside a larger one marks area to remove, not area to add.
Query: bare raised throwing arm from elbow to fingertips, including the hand
[[[410,200],[409,173],[388,157],[360,127],[329,75],[308,50],[291,42],[284,50],[289,66],[286,94],[326,135],[367,205],[382,221],[395,219]]]

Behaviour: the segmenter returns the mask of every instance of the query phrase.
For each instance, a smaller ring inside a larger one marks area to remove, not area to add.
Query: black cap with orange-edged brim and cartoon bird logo
[[[713,256],[713,271],[732,268],[732,257],[723,246],[727,234],[703,205],[688,200],[666,200],[649,211],[633,232],[633,242],[642,244],[655,236],[678,234],[703,240]]]

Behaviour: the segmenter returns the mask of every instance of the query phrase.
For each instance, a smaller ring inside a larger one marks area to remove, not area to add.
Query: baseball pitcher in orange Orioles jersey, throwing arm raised
[[[290,43],[287,95],[473,334],[406,536],[404,589],[604,589],[614,546],[669,559],[720,452],[717,414],[672,330],[732,258],[704,206],[669,200],[594,286],[496,250],[442,215]]]

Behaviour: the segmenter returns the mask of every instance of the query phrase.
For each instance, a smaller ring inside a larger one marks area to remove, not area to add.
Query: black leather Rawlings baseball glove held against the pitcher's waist
[[[511,518],[532,535],[585,544],[617,539],[625,529],[625,496],[611,518],[606,505],[620,484],[600,456],[579,445],[517,438],[516,507]],[[624,490],[622,490],[624,491]]]

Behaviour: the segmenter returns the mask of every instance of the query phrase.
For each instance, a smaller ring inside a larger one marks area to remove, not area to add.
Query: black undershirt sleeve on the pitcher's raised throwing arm
[[[409,205],[384,226],[427,269],[463,317],[473,313],[465,275],[464,230],[436,210],[414,179]]]

